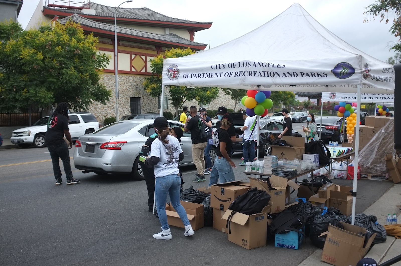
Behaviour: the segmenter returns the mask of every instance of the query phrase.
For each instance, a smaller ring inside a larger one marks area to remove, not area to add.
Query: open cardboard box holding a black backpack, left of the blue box
[[[245,215],[235,213],[229,224],[228,241],[248,250],[266,246],[267,213],[271,203],[260,214]],[[232,210],[227,210],[222,219],[227,220]],[[231,234],[230,234],[231,231]]]

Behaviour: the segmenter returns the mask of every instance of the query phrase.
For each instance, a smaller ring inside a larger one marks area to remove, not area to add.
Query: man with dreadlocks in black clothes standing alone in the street
[[[67,175],[67,185],[77,184],[81,181],[80,179],[73,178],[73,172],[71,171],[70,154],[68,150],[73,147],[73,141],[68,128],[70,120],[68,113],[67,103],[59,103],[47,122],[46,145],[53,163],[56,185],[61,185],[61,183],[63,183],[59,165],[60,159],[63,161],[64,172]],[[64,141],[64,135],[70,143],[69,147],[67,147],[67,143]]]

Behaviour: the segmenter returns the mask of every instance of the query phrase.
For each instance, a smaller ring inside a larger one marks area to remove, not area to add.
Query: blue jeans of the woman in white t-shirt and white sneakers
[[[164,230],[167,230],[169,228],[166,214],[167,194],[170,195],[170,204],[180,216],[182,222],[184,223],[184,226],[189,225],[188,216],[186,215],[184,207],[182,207],[180,203],[180,187],[180,174],[156,177],[156,184],[154,188],[154,193],[156,195],[156,207],[160,224],[162,224],[162,228]]]

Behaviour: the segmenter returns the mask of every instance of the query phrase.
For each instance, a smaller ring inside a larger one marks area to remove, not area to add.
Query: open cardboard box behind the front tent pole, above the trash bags
[[[353,187],[346,187],[343,185],[336,185],[333,191],[330,191],[330,199],[328,206],[330,208],[337,208],[342,214],[346,216],[352,214],[353,197],[350,189]]]

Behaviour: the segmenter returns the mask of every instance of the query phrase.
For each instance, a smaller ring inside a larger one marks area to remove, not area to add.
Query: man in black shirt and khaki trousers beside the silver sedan
[[[205,182],[205,148],[207,145],[207,138],[201,138],[201,123],[205,123],[205,120],[198,115],[198,109],[196,106],[191,106],[189,109],[189,115],[184,125],[184,131],[191,131],[192,139],[192,160],[198,170],[196,177],[192,182]]]

